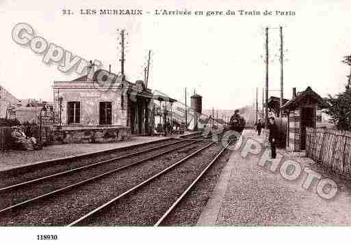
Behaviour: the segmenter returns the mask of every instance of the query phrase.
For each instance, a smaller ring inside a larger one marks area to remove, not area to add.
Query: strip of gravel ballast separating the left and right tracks
[[[74,188],[55,197],[0,214],[0,225],[62,226],[113,199],[181,158],[195,152],[207,142],[197,142],[177,151],[122,170],[90,184]]]

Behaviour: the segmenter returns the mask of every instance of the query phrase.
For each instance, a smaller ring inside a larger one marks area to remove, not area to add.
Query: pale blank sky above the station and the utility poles
[[[142,10],[140,16],[81,15],[80,10]],[[64,15],[62,10],[74,14]],[[155,10],[187,10],[191,16],[156,16]],[[196,16],[195,11],[223,11],[222,16]],[[231,10],[234,16],[226,16]],[[261,15],[239,15],[239,10]],[[294,11],[294,16],[263,16],[265,10]],[[150,13],[146,13],[150,12]],[[292,87],[311,86],[321,96],[343,90],[350,68],[341,61],[351,55],[351,5],[339,1],[18,1],[0,0],[0,85],[16,98],[53,100],[53,81],[80,75],[61,72],[12,39],[18,23],[27,23],[48,43],[83,59],[101,61],[105,70],[120,71],[118,29],[127,32],[125,73],[143,79],[148,50],[148,87],[177,100],[194,89],[203,108],[235,109],[255,102],[265,85],[265,27],[269,27],[270,96],[279,96],[279,30],[283,27],[284,97]]]

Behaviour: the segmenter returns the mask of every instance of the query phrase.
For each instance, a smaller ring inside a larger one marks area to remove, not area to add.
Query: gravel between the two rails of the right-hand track
[[[81,226],[151,226],[168,210],[181,193],[198,174],[218,154],[222,145],[213,144],[174,167],[164,175],[157,177],[122,197],[106,209],[83,220]]]

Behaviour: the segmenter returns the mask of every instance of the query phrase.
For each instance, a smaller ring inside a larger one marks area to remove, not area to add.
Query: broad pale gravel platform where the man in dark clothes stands
[[[253,130],[244,130],[242,147],[233,150],[222,169],[213,194],[198,218],[198,226],[351,225],[350,179],[331,173],[306,158],[304,152],[285,149],[277,149],[282,160],[273,172],[270,168],[274,164],[265,155],[268,151],[265,152],[263,140],[264,136],[257,136]],[[253,141],[262,148],[256,151],[250,146],[246,148],[250,153],[243,154],[245,145]],[[259,164],[262,159],[263,166]],[[298,164],[295,166],[301,169],[298,177],[290,175],[294,179],[289,179],[289,172],[285,173],[282,167],[285,160]],[[311,183],[308,173],[315,176]],[[332,179],[337,184],[333,198],[326,199],[317,191],[321,179]]]

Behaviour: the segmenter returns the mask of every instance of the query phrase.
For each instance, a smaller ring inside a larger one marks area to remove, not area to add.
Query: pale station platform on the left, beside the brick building
[[[17,151],[0,152],[0,172],[10,169],[27,166],[29,164],[40,164],[49,160],[68,158],[71,156],[80,156],[92,154],[94,152],[106,151],[109,149],[118,149],[129,147],[148,142],[156,142],[167,139],[164,136],[133,136],[129,141],[120,141],[116,143],[80,143],[49,145],[39,151]]]

